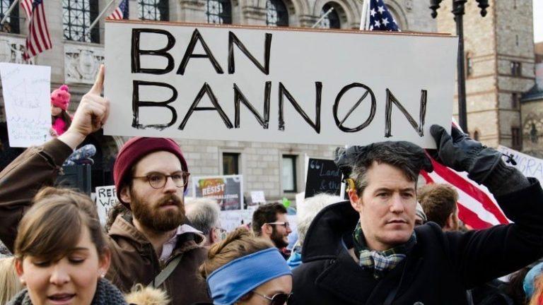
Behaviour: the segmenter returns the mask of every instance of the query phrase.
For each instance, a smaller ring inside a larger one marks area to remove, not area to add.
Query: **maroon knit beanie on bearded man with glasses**
[[[117,198],[125,207],[130,208],[129,205],[121,199],[121,184],[124,177],[129,174],[132,167],[136,162],[141,160],[142,157],[159,150],[165,150],[176,155],[181,162],[182,169],[185,172],[189,171],[187,161],[185,161],[185,157],[183,157],[179,145],[177,145],[174,140],[169,138],[131,138],[127,143],[124,143],[121,150],[119,150],[117,160],[115,160],[115,165],[113,165],[113,180],[115,181],[115,189],[117,189]],[[188,184],[185,186],[185,189],[187,189],[187,186]]]

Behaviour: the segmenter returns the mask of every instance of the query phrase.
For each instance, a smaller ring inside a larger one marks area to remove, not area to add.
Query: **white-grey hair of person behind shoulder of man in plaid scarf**
[[[305,235],[308,233],[309,226],[317,214],[327,205],[341,201],[338,196],[332,196],[327,193],[320,193],[311,198],[306,198],[298,207],[298,245],[303,245]]]

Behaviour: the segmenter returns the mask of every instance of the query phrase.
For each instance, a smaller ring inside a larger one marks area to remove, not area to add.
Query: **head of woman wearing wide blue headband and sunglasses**
[[[279,250],[244,228],[211,246],[199,270],[215,305],[283,305],[292,291],[292,273]]]

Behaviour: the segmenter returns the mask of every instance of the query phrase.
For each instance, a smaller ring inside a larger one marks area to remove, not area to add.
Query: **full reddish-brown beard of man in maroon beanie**
[[[166,195],[156,203],[149,203],[140,198],[134,189],[130,189],[130,197],[132,199],[130,203],[132,215],[148,229],[155,232],[168,232],[185,222],[185,204],[175,194]],[[173,201],[177,205],[177,211],[159,210],[162,205],[168,204],[168,201]]]

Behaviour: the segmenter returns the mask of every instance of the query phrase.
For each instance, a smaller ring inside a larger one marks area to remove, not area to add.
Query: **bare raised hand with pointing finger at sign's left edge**
[[[76,148],[85,140],[86,136],[102,128],[110,113],[110,101],[101,96],[103,87],[104,66],[101,65],[93,88],[81,98],[70,128],[59,137],[59,140],[71,148]]]

